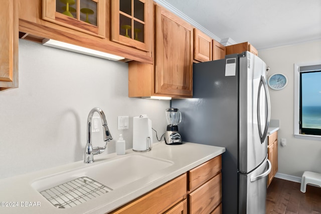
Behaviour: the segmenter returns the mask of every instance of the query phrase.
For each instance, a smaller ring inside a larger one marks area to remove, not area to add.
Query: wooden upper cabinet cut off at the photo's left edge
[[[0,7],[0,90],[18,87],[18,1],[2,1]]]

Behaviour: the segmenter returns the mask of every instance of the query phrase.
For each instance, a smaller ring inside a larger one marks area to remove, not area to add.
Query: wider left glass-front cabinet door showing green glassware
[[[101,38],[106,16],[106,0],[43,0],[44,20]]]

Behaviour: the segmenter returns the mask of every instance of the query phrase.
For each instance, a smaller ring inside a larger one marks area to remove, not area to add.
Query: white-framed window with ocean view
[[[294,136],[321,140],[321,64],[294,65]]]

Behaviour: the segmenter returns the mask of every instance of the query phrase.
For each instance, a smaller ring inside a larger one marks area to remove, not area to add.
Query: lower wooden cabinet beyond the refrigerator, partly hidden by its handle
[[[267,176],[267,186],[270,185],[274,175],[278,170],[278,141],[277,141],[277,131],[272,133],[267,137],[267,158],[272,164],[272,169],[270,174]]]

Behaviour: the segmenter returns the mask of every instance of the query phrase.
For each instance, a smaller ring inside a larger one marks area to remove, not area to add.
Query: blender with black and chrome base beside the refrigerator
[[[165,133],[165,143],[169,145],[182,144],[182,138],[177,126],[182,121],[182,115],[179,109],[169,108],[165,112],[167,119],[167,130]]]

